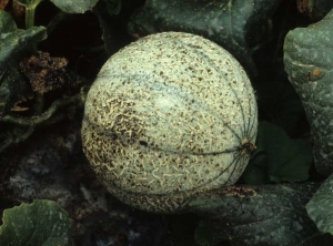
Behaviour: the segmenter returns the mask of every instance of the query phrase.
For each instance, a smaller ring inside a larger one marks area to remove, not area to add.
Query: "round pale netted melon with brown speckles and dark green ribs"
[[[163,32],[103,65],[88,93],[82,141],[114,196],[165,213],[235,183],[256,131],[255,96],[239,62],[199,35]]]

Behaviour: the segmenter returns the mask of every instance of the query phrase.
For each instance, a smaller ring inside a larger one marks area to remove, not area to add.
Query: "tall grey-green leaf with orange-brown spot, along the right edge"
[[[290,31],[284,64],[312,127],[314,161],[323,175],[333,173],[333,11],[309,28]]]

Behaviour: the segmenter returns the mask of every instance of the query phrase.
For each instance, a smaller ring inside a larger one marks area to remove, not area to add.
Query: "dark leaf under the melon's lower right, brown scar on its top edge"
[[[304,208],[316,188],[316,184],[238,186],[199,196],[189,204],[203,216],[196,242],[209,246],[221,242],[232,246],[330,246],[333,237],[321,234]]]

